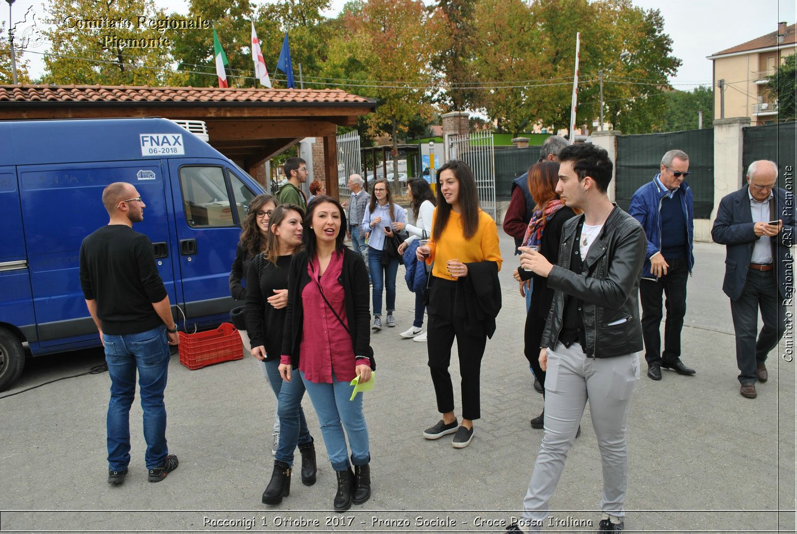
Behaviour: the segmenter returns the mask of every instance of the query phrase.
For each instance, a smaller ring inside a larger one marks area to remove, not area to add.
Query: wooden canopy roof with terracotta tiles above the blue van
[[[0,85],[0,120],[166,117],[205,121],[210,145],[249,171],[308,136],[335,146],[376,101],[339,89]],[[331,139],[330,139],[331,138]],[[332,153],[330,153],[332,152]],[[325,167],[337,176],[336,150]]]

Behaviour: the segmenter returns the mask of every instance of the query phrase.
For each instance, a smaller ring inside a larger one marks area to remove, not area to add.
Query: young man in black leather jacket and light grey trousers
[[[599,532],[622,532],[626,421],[642,350],[638,290],[645,231],[607,196],[612,164],[606,150],[571,145],[559,159],[556,192],[584,213],[564,223],[557,265],[535,251],[520,255],[520,266],[547,277],[556,291],[540,347],[540,366],[547,370],[545,436],[523,515],[508,530],[538,532],[551,524],[548,501],[588,400],[603,461]]]

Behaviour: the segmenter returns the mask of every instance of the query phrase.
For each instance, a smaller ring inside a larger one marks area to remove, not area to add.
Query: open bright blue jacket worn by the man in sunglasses
[[[659,175],[657,174],[656,176]],[[691,273],[695,264],[693,254],[695,216],[692,188],[686,182],[681,182],[679,188],[681,189],[681,194],[679,195],[682,199],[681,208],[684,211],[684,220],[686,221],[686,235],[689,241],[689,254],[686,257],[686,263]],[[656,279],[653,273],[650,272],[650,256],[662,250],[662,199],[667,193],[668,190],[660,187],[654,178],[641,188],[638,188],[634,196],[631,197],[628,213],[642,224],[647,236],[647,252],[645,254],[645,265],[642,267],[642,278]]]

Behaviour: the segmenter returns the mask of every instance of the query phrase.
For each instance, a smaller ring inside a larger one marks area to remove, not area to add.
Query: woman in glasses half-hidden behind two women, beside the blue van
[[[268,235],[269,235],[269,219],[277,208],[277,199],[263,193],[257,195],[249,202],[249,210],[246,212],[246,218],[241,224],[241,240],[238,241],[238,247],[235,250],[235,259],[233,260],[233,267],[230,270],[230,295],[233,295],[235,300],[246,300],[246,287],[241,280],[245,279],[246,271],[249,270],[249,263],[252,259],[265,252],[268,248]],[[285,299],[287,300],[287,292]],[[239,324],[238,326],[244,326]],[[241,342],[243,342],[244,354],[249,354],[252,346],[249,343],[249,335],[246,333],[245,328],[239,328],[238,334],[241,335]],[[265,364],[257,362],[260,367],[263,378],[268,380],[269,375],[266,373]],[[273,433],[273,446],[271,449],[272,454],[277,453],[277,443],[280,438],[280,418],[277,416],[277,410],[274,410],[274,433]]]

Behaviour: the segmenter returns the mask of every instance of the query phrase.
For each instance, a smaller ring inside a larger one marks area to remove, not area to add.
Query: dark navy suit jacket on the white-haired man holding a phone
[[[783,230],[771,239],[772,263],[781,298],[791,298],[794,288],[793,258],[789,247],[794,244],[795,208],[794,193],[782,188],[772,189],[770,220],[783,220]],[[711,229],[711,237],[716,243],[725,245],[725,279],[722,291],[731,300],[737,300],[747,281],[752,247],[758,236],[753,231],[755,223],[750,213],[749,186],[732,192],[720,200],[717,219]],[[790,281],[789,281],[790,280]]]

